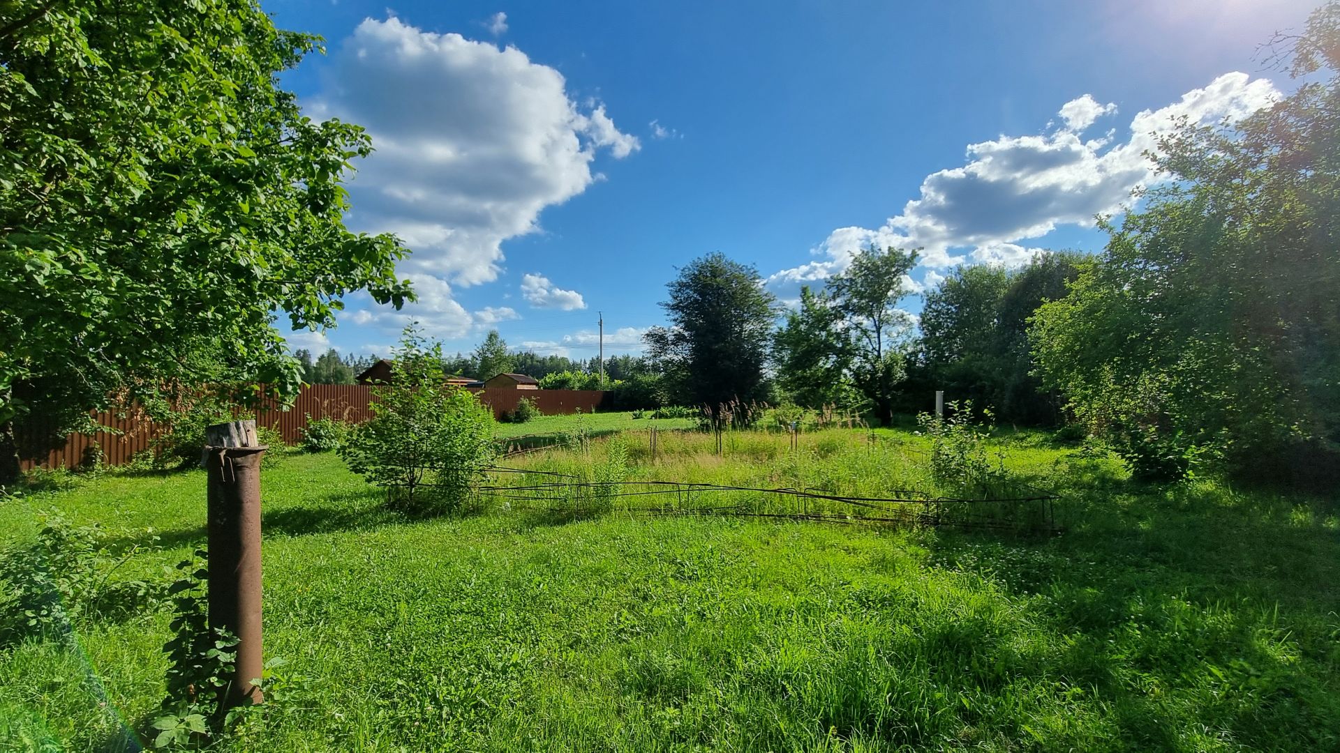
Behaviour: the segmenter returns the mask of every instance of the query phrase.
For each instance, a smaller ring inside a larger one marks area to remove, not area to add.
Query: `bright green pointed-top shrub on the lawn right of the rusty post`
[[[493,460],[493,417],[473,394],[442,383],[441,343],[427,346],[413,330],[393,374],[390,385],[374,389],[373,418],[350,433],[339,454],[386,488],[391,505],[460,509]]]

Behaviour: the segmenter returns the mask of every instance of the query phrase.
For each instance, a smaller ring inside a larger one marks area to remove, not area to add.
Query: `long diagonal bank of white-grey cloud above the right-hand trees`
[[[1170,133],[1179,118],[1202,125],[1235,121],[1277,96],[1266,79],[1225,74],[1172,105],[1138,113],[1118,143],[1115,134],[1080,138],[1083,127],[1112,107],[1081,96],[1063,107],[1065,127],[969,145],[966,165],[927,176],[919,196],[883,226],[839,228],[812,251],[816,261],[783,269],[768,284],[785,297],[788,288],[846,269],[870,243],[921,247],[921,264],[931,269],[1022,264],[1038,249],[1018,241],[1045,236],[1057,225],[1091,225],[1096,214],[1119,210],[1134,189],[1159,181],[1143,153],[1156,150],[1158,134]]]

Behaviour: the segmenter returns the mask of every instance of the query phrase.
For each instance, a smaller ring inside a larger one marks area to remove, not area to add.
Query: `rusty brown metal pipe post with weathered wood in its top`
[[[249,426],[248,426],[249,425]],[[209,627],[237,636],[237,662],[225,707],[260,703],[261,569],[260,461],[255,421],[233,421],[206,430],[205,470],[209,535]]]

